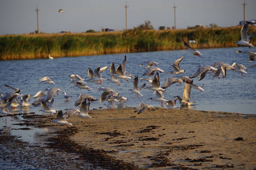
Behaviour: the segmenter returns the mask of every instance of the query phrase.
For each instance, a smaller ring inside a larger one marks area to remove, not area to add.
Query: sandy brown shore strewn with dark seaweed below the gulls
[[[89,114],[92,119],[70,117],[72,128],[53,124],[51,117],[36,114],[25,117],[25,123],[57,129],[45,148],[54,150],[53,156],[58,152],[74,154],[73,159],[67,157],[68,162],[60,163],[68,169],[86,169],[81,165],[85,162],[91,164],[87,169],[253,169],[256,166],[253,114],[191,109],[173,112],[163,108],[141,114],[135,113],[134,108],[95,109]],[[14,155],[17,157],[16,152]],[[54,165],[51,158],[40,161],[51,164],[51,168],[60,166]]]

